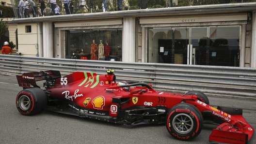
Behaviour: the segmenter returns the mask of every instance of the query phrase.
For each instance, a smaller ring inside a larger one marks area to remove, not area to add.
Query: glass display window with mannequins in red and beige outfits
[[[122,29],[66,30],[65,36],[65,58],[122,61]]]

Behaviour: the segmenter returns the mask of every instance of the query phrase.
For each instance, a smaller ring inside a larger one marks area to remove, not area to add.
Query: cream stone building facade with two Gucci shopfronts
[[[24,56],[256,67],[256,2],[15,19]],[[110,51],[108,50],[110,48]],[[108,54],[106,54],[108,53]]]

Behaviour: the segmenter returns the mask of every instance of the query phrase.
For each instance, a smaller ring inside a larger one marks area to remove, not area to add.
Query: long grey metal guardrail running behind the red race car
[[[130,63],[63,58],[31,58],[0,55],[0,72],[22,74],[44,70],[96,72],[115,70],[118,81],[144,81],[156,89],[212,95],[256,98],[256,69],[223,66]]]

